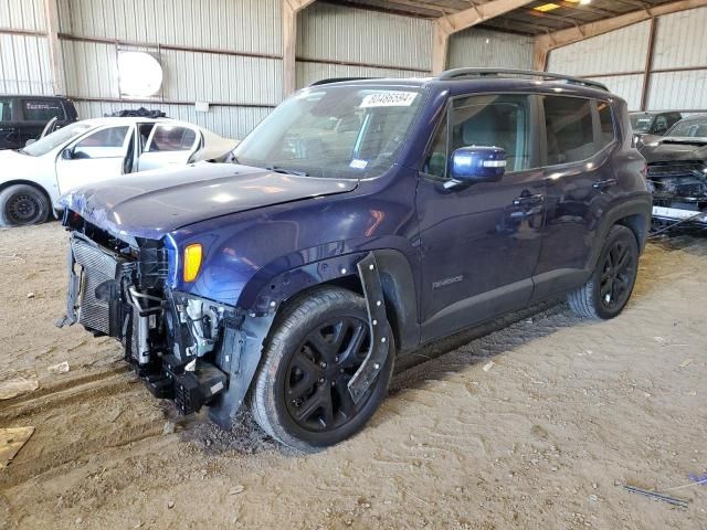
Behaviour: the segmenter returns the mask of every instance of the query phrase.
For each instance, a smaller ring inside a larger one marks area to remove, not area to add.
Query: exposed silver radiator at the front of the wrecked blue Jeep
[[[78,322],[95,331],[114,335],[116,330],[110,329],[112,320],[116,316],[113,315],[112,319],[113,303],[96,298],[96,288],[104,282],[118,278],[120,263],[96,245],[81,239],[72,237],[71,246],[74,261],[82,267]]]

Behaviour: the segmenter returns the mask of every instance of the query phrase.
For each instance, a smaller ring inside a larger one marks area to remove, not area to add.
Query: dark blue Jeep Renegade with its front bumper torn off
[[[233,151],[63,199],[66,316],[158,398],[302,451],[362,428],[397,359],[540,300],[626,305],[651,220],[626,104],[462,68],[320,82]]]

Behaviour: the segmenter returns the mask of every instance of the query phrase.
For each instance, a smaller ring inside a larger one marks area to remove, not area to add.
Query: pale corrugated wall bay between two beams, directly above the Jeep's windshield
[[[326,77],[413,77],[432,68],[430,20],[314,3],[297,19],[297,86]]]

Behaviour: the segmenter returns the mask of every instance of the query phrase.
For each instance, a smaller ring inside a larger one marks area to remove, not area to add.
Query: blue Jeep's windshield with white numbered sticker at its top
[[[273,110],[235,148],[234,161],[312,177],[376,177],[394,162],[421,104],[415,88],[308,88]]]

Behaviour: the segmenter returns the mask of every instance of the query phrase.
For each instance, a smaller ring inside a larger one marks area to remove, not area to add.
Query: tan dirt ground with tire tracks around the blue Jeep
[[[40,381],[0,401],[0,427],[35,427],[0,469],[3,530],[707,529],[707,237],[651,244],[612,321],[561,304],[418,352],[360,435],[307,456],[246,414],[180,418],[113,340],[56,329],[65,242],[0,230],[0,379]]]

